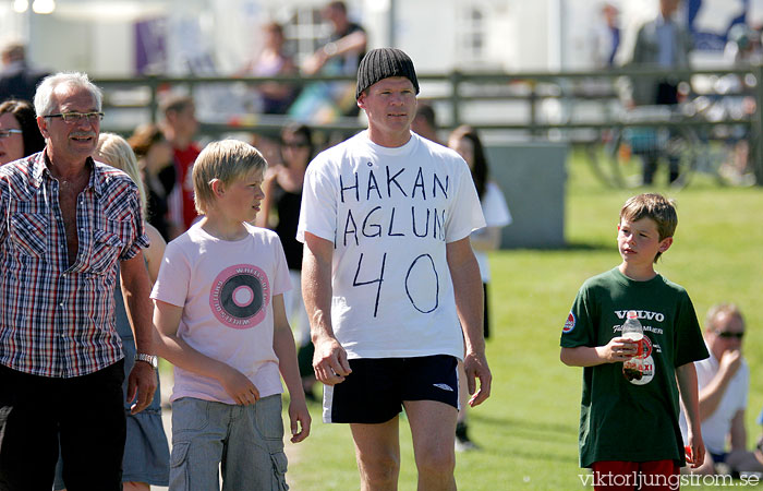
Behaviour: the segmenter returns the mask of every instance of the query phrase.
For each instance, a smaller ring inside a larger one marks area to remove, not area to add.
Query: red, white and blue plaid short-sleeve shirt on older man
[[[45,152],[0,167],[0,363],[43,376],[101,370],[122,355],[114,330],[118,261],[148,246],[137,187],[88,158],[77,196],[80,249],[69,264],[59,182]]]

